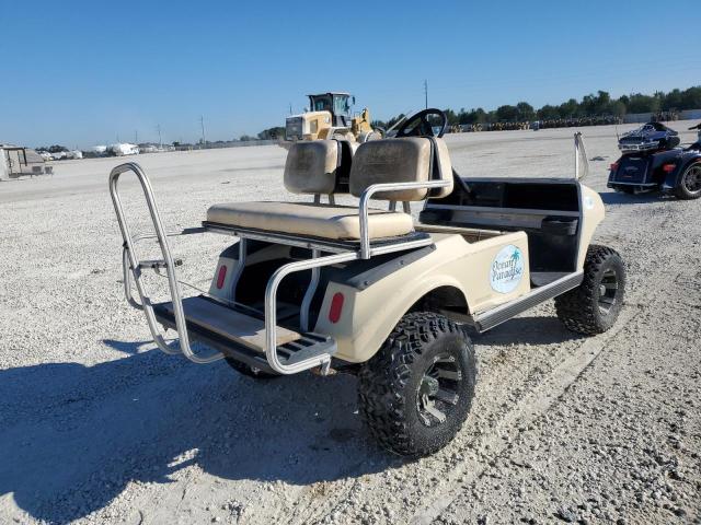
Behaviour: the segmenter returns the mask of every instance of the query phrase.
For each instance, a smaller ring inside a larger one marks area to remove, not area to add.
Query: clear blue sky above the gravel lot
[[[386,119],[423,105],[424,79],[455,109],[701,84],[701,5],[665,5],[4,0],[0,142],[158,140],[159,124],[194,141],[200,115],[207,139],[231,139],[329,90]]]

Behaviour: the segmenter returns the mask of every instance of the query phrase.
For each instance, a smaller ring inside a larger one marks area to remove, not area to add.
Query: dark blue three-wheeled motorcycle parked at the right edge
[[[679,199],[701,197],[701,140],[679,148],[679,133],[648,122],[623,135],[622,156],[611,164],[608,187],[624,194],[663,191]]]

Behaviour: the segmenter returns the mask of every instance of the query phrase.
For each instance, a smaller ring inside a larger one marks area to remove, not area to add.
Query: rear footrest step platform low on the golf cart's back
[[[187,331],[194,340],[256,369],[273,372],[265,358],[265,322],[204,295],[183,299]],[[173,303],[153,305],[159,323],[175,329]],[[262,315],[261,315],[262,317]],[[283,364],[336,352],[336,341],[314,332],[299,334],[276,327],[277,355]]]

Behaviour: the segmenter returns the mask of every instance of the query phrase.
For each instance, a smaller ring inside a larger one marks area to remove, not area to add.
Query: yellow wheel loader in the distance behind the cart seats
[[[363,143],[382,138],[381,130],[372,129],[367,107],[359,115],[352,116],[355,96],[349,93],[329,92],[307,96],[309,110],[287,117],[285,141],[280,143],[284,148],[289,149],[300,140],[342,139]]]

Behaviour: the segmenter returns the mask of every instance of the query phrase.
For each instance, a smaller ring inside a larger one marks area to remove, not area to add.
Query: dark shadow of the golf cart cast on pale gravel
[[[350,376],[255,381],[223,362],[105,343],[129,355],[0,371],[0,497],[36,520],[78,520],[129,481],[171,483],[189,465],[307,486],[401,464],[366,436]]]

